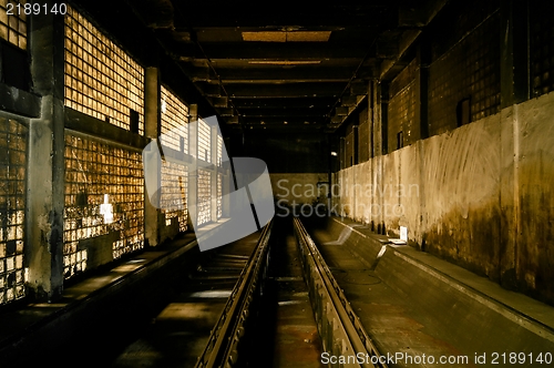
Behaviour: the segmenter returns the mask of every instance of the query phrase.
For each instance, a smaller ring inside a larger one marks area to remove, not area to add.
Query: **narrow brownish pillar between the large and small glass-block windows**
[[[146,68],[144,71],[144,135],[151,140],[157,140],[161,131],[161,110],[160,110],[160,72],[157,68]],[[153,161],[152,165],[157,165],[160,162]],[[151,175],[157,175],[157,182],[161,183],[161,168],[151,166]],[[160,187],[160,185],[158,185]],[[144,196],[144,232],[146,244],[156,246],[160,244],[160,222],[161,211],[150,203],[147,195]],[[165,224],[164,224],[165,225]]]

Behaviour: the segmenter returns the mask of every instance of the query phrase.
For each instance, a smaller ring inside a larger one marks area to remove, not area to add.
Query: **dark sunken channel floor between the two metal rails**
[[[276,217],[266,288],[249,367],[319,368],[321,340],[304,280],[291,217]]]

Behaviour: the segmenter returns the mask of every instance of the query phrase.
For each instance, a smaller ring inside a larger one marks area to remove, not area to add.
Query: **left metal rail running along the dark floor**
[[[245,324],[255,298],[261,294],[263,280],[269,264],[268,242],[273,221],[259,237],[255,251],[240,273],[225,308],[219,316],[196,368],[233,367],[238,360],[238,345],[245,335]]]

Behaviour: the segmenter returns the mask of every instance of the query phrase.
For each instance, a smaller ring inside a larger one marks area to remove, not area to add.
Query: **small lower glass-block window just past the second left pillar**
[[[187,166],[170,161],[162,161],[162,208],[164,209],[165,225],[170,226],[172,218],[177,217],[179,232],[187,229],[188,211],[186,208],[186,195],[188,186]]]

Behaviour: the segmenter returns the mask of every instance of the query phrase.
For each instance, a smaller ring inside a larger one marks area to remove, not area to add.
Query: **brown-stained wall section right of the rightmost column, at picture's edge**
[[[521,288],[554,300],[554,93],[522,103],[515,121],[519,211],[516,274]],[[517,145],[519,142],[519,145]]]

